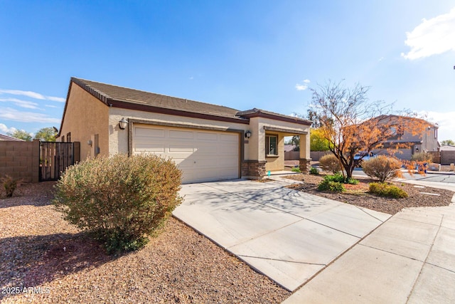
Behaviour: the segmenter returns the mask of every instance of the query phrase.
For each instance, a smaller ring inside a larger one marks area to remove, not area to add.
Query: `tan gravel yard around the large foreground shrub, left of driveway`
[[[49,204],[53,184],[0,199],[1,303],[281,303],[290,295],[173,218],[145,248],[107,256]]]

